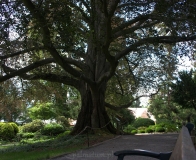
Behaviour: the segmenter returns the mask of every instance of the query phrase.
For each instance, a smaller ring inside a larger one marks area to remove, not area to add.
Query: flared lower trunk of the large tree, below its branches
[[[105,94],[100,92],[100,90],[92,90],[87,86],[81,89],[80,94],[82,105],[72,134],[85,133],[84,129],[87,126],[91,130],[99,128],[115,134],[116,129],[110,122],[110,118],[105,110]]]

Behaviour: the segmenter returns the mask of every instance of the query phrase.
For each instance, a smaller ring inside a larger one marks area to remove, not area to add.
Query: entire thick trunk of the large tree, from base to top
[[[94,31],[90,33],[91,36],[88,36],[88,50],[85,58],[88,66],[85,75],[94,83],[82,85],[80,90],[82,106],[73,134],[80,133],[86,126],[91,127],[91,129],[102,128],[111,133],[116,133],[104,103],[106,84],[109,80],[106,75],[117,66],[117,63],[113,64],[112,56],[109,56],[108,51],[109,39],[111,38],[110,19],[104,13],[104,3],[96,1],[95,4],[92,8],[96,14],[93,15],[95,17],[91,26]]]

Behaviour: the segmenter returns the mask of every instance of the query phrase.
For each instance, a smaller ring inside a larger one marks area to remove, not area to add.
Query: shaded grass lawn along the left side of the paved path
[[[60,139],[53,139],[47,142],[36,142],[20,144],[12,143],[0,145],[0,160],[46,160],[59,155],[72,153],[80,149],[92,146],[107,139],[113,138],[110,134],[94,134],[79,137],[68,136]]]

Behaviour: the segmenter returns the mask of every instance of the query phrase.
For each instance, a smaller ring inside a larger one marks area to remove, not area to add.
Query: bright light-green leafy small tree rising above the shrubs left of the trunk
[[[29,109],[29,115],[32,119],[51,119],[56,117],[54,105],[52,103],[37,103]]]

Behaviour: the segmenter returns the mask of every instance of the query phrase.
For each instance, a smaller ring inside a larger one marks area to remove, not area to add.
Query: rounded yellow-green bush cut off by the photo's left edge
[[[3,140],[11,140],[15,137],[14,128],[10,123],[1,123],[0,138]]]

